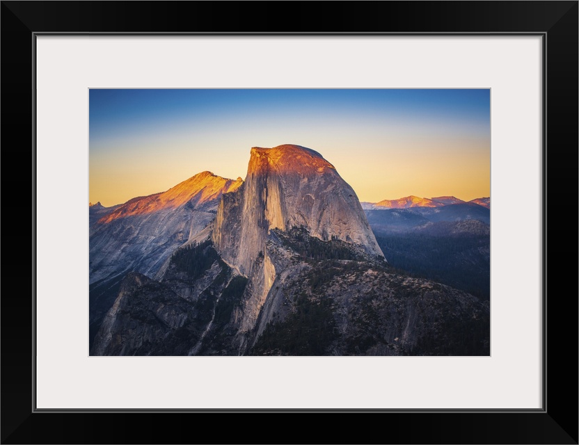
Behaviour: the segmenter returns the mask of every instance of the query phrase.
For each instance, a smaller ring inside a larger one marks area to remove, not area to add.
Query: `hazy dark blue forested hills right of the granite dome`
[[[490,209],[475,202],[365,210],[394,267],[490,297]]]

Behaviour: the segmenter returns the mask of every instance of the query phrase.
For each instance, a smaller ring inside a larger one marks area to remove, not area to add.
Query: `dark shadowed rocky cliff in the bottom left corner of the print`
[[[232,354],[229,321],[246,282],[210,241],[177,250],[163,280],[125,276],[91,354]]]

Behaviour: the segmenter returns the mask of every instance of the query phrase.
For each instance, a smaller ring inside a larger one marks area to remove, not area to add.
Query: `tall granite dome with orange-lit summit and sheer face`
[[[321,154],[299,145],[253,147],[244,184],[223,195],[212,234],[223,260],[249,280],[240,332],[255,326],[281,270],[266,248],[270,229],[292,227],[384,257],[356,193]]]

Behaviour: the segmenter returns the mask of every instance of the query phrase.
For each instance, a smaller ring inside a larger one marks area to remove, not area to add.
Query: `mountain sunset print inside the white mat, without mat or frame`
[[[489,88],[94,88],[89,134],[91,356],[491,355]]]

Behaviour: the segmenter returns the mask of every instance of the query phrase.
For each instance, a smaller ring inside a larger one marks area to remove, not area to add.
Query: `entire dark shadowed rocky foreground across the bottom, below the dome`
[[[266,251],[278,272],[253,328],[243,324],[251,282],[208,240],[177,250],[161,281],[127,275],[92,353],[489,354],[489,302],[401,275],[344,241],[305,229],[272,234]]]

